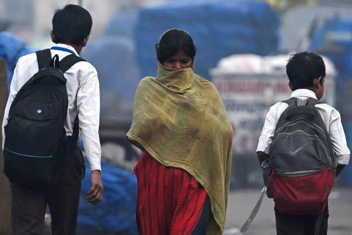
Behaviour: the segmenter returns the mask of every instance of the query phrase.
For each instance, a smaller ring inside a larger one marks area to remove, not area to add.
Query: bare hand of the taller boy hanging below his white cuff
[[[91,205],[95,205],[103,198],[103,182],[101,180],[101,171],[93,170],[90,172],[90,181],[92,182],[92,188],[87,192],[87,201]]]

